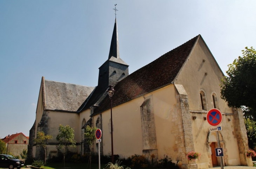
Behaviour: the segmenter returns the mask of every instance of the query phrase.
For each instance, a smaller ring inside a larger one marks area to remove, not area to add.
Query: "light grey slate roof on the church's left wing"
[[[43,88],[47,110],[76,112],[95,87],[44,80]]]

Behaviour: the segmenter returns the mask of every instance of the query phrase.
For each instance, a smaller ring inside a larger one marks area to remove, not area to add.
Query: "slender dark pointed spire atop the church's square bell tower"
[[[114,25],[114,30],[113,30],[111,44],[110,44],[110,50],[109,50],[108,59],[110,59],[112,56],[117,58],[117,59],[120,58],[120,56],[119,56],[119,42],[118,42],[116,19],[115,19],[115,25]]]

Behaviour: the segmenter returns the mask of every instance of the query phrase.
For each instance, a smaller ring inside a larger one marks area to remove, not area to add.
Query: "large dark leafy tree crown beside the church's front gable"
[[[228,65],[227,76],[222,80],[221,98],[228,106],[245,106],[256,110],[256,51],[245,47],[239,56]]]

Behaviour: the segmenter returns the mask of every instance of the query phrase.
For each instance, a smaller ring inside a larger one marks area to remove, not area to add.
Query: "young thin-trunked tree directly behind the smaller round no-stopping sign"
[[[85,128],[85,138],[86,138],[86,142],[87,144],[90,146],[90,155],[89,155],[89,161],[88,161],[88,165],[90,163],[90,168],[91,168],[91,154],[92,154],[92,146],[93,143],[96,140],[95,137],[95,132],[96,132],[97,128],[96,127],[90,127],[90,126],[86,126]],[[88,167],[87,165],[87,167]]]

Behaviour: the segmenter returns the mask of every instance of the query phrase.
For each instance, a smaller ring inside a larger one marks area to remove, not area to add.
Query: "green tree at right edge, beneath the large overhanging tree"
[[[256,147],[256,122],[250,119],[244,119],[244,124],[248,137],[248,146],[253,149]]]

